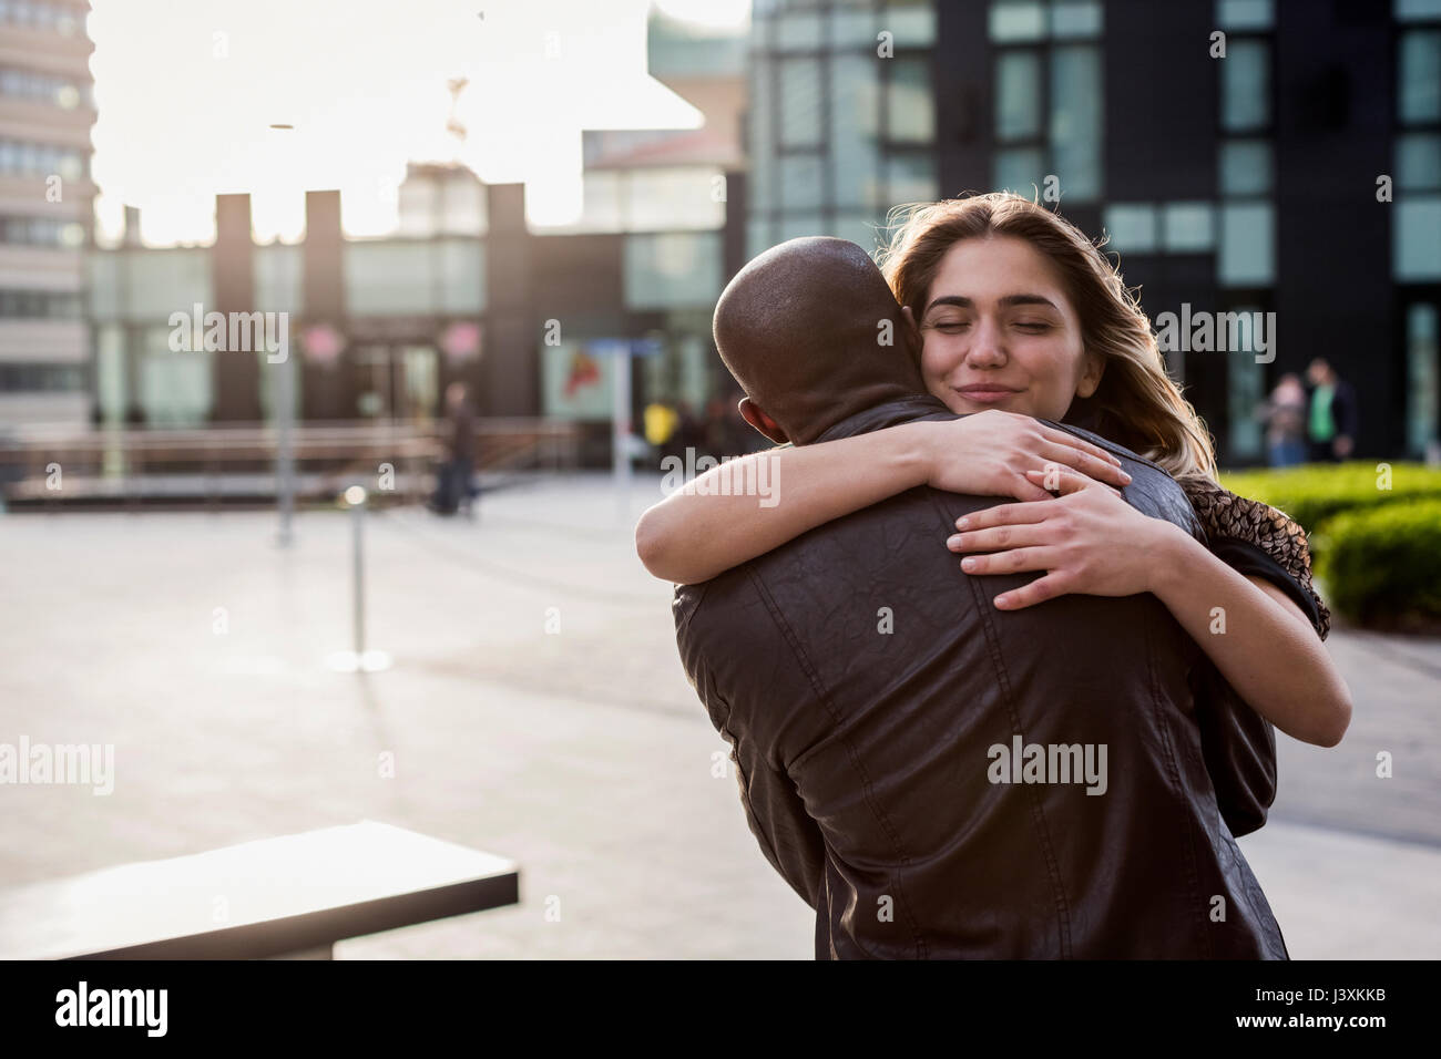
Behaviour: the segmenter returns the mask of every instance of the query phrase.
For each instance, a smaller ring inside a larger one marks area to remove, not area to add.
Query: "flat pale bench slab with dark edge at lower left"
[[[0,960],[329,960],[519,885],[510,860],[366,820],[0,890]]]

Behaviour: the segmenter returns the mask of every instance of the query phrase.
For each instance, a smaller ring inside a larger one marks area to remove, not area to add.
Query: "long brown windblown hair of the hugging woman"
[[[945,254],[961,239],[1025,239],[1055,265],[1081,318],[1087,352],[1105,359],[1101,383],[1075,398],[1066,422],[1110,438],[1172,477],[1215,478],[1216,454],[1196,409],[1166,375],[1150,320],[1121,274],[1075,225],[1010,192],[898,206],[880,271],[916,321]]]

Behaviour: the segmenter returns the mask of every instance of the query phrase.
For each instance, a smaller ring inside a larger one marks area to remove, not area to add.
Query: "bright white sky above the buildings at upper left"
[[[582,128],[693,128],[646,73],[648,0],[92,0],[97,236],[141,210],[151,245],[208,243],[215,195],[249,192],[255,238],[298,239],[304,192],[342,192],[350,235],[396,225],[405,163],[460,158],[579,213]],[[749,0],[657,0],[744,24]],[[447,81],[470,78],[445,131]],[[271,124],[291,124],[275,131]]]

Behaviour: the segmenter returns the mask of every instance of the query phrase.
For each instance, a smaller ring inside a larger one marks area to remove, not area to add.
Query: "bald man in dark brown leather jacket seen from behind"
[[[882,320],[912,347],[879,346]],[[715,334],[771,437],[955,418],[853,243],[762,254]],[[1136,507],[1199,535],[1163,471],[1085,437]],[[1287,958],[1203,764],[1200,650],[1150,595],[997,612],[1033,575],[971,578],[938,546],[996,503],[909,490],[676,591],[686,671],[762,853],[816,909],[817,958]],[[1071,781],[1027,778],[1030,746],[1075,748]]]

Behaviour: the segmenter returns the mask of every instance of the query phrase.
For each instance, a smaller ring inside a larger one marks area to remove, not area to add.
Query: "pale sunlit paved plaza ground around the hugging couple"
[[[326,664],[350,647],[340,510],[301,513],[290,549],[267,511],[0,514],[0,742],[115,746],[108,797],[0,787],[0,885],[372,818],[513,857],[522,903],[339,958],[810,958],[635,559],[659,496],[640,475],[623,509],[576,474],[513,480],[474,522],[369,514],[367,645],[393,657],[369,676]],[[1241,846],[1293,957],[1435,958],[1441,643],[1329,643],[1352,729],[1280,736]]]

